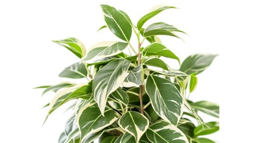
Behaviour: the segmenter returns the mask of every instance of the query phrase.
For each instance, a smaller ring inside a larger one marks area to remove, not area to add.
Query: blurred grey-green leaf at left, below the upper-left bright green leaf
[[[87,69],[85,64],[75,63],[66,67],[60,74],[58,74],[58,76],[71,79],[81,79],[87,77]]]

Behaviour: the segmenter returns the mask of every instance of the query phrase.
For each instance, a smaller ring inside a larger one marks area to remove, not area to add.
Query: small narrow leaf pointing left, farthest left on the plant
[[[72,82],[60,82],[60,83],[57,83],[56,85],[49,86],[47,89],[45,89],[45,91],[42,93],[42,95],[44,95],[45,93],[47,93],[49,91],[57,92],[61,88],[69,88],[69,87],[72,87],[75,85],[76,84],[72,83]],[[41,88],[41,87],[42,86],[40,86],[38,88]]]

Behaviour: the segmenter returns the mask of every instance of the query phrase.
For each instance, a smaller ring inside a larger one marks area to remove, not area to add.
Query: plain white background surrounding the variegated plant
[[[90,48],[100,41],[119,41],[104,25],[99,4],[125,11],[134,24],[155,5],[174,5],[146,24],[164,21],[184,30],[185,42],[161,36],[183,61],[196,52],[220,54],[198,76],[190,95],[221,106],[220,142],[255,142],[255,5],[252,1],[1,1],[0,2],[0,142],[57,142],[69,113],[56,110],[42,126],[53,98],[35,86],[53,85],[75,55],[51,40],[75,37]],[[136,44],[136,43],[135,43]],[[79,82],[82,82],[79,80]],[[205,116],[206,120],[214,120]]]

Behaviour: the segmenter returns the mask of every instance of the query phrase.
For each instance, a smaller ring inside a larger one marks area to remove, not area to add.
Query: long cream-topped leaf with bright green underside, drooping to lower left
[[[48,114],[53,113],[55,109],[66,103],[67,101],[83,98],[88,100],[92,94],[92,82],[81,83],[71,88],[63,89],[58,92],[50,102]]]

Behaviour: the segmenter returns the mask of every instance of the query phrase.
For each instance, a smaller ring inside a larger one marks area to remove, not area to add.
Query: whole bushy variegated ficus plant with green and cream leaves
[[[38,87],[45,88],[43,94],[57,92],[46,105],[48,116],[66,102],[75,102],[59,142],[214,142],[202,136],[217,132],[218,122],[203,122],[198,111],[218,118],[219,106],[192,102],[188,96],[196,88],[196,76],[217,55],[193,54],[180,63],[158,35],[180,38],[177,33],[183,31],[163,22],[143,27],[150,18],[175,7],[154,7],[137,24],[124,11],[109,5],[101,8],[106,26],[100,30],[109,28],[120,41],[99,42],[88,51],[76,38],[54,41],[81,59],[59,76],[84,78],[85,83]],[[138,43],[130,42],[132,35]],[[180,68],[172,69],[162,57],[177,61]]]

